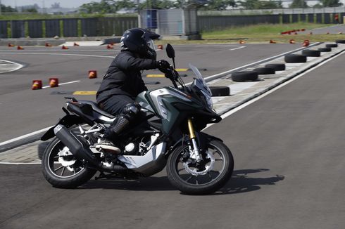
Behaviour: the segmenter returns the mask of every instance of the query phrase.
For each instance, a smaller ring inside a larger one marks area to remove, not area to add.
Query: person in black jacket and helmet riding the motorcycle
[[[121,37],[121,51],[108,67],[96,93],[99,107],[117,118],[99,139],[96,150],[120,153],[120,148],[113,141],[137,117],[140,105],[134,99],[142,91],[147,91],[140,71],[170,67],[165,60],[156,61],[152,40],[158,37],[160,35],[141,28],[127,30]]]

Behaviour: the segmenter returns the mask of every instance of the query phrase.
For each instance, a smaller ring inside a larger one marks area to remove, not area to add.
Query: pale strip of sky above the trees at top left
[[[41,8],[42,6],[50,8],[55,2],[60,3],[60,6],[63,8],[77,8],[92,1],[99,2],[101,0],[0,0],[1,4],[5,6],[15,7],[37,4]]]

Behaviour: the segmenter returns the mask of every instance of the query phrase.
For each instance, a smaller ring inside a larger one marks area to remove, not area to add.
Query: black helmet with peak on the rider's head
[[[158,34],[141,28],[126,30],[121,37],[121,50],[138,53],[142,58],[156,60],[153,39],[158,39]]]

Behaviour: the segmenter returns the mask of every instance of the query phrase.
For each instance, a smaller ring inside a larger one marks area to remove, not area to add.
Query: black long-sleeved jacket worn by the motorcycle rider
[[[121,51],[103,77],[96,93],[97,103],[102,103],[113,95],[126,95],[134,99],[142,91],[147,91],[140,71],[156,67],[156,60],[137,58],[129,51]]]

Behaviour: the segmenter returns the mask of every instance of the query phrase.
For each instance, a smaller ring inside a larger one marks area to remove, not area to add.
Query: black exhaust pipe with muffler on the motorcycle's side
[[[105,166],[102,162],[94,157],[93,152],[84,145],[72,131],[68,130],[65,126],[59,124],[54,128],[55,136],[61,140],[61,142],[68,147],[70,152],[77,159],[84,159],[90,162],[97,169],[103,169],[106,171],[126,171],[127,168],[120,165]]]

